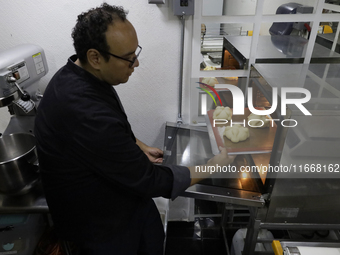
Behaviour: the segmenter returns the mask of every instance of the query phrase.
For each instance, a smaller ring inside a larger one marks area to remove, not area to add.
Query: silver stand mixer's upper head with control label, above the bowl
[[[0,107],[12,115],[34,115],[37,81],[48,72],[44,50],[23,44],[0,52]]]

